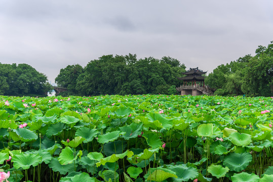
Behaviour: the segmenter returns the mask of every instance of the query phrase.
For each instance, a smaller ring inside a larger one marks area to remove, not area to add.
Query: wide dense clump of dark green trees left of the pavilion
[[[55,82],[67,88],[67,92],[60,93],[63,96],[176,94],[181,84],[177,77],[184,71],[184,64],[170,57],[106,55],[85,67],[68,65],[60,70]]]

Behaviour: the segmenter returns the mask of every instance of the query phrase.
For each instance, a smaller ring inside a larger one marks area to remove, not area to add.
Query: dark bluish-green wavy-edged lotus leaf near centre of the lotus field
[[[141,134],[143,129],[143,124],[131,123],[129,126],[120,127],[121,131],[126,132],[122,137],[125,140],[129,140],[131,138],[136,138],[138,135]]]

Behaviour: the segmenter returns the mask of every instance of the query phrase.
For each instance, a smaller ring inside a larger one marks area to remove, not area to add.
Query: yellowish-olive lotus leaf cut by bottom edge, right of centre
[[[147,174],[145,174],[145,178],[147,178],[147,181],[157,181],[157,182],[161,182],[164,181],[165,179],[169,178],[169,177],[175,177],[177,178],[177,175],[175,174],[175,172],[169,170],[169,169],[164,169],[161,167],[157,168],[150,168],[147,171],[151,172],[151,175],[149,174],[149,172],[147,172]]]

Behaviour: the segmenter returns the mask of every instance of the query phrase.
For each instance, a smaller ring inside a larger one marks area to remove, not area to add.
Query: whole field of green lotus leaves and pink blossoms
[[[273,181],[272,98],[0,100],[0,181]]]

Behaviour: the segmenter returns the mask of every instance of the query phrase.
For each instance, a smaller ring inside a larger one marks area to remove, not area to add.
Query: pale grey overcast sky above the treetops
[[[0,63],[54,83],[103,55],[170,56],[212,72],[273,40],[273,1],[0,0]]]

